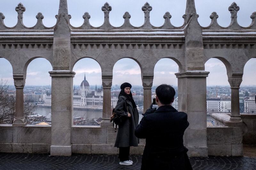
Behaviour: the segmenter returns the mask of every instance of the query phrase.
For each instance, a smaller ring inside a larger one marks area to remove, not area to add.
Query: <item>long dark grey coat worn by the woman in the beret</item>
[[[127,106],[131,117],[128,117]],[[132,108],[132,102],[127,100],[127,97],[120,95],[115,112],[122,116],[122,122],[118,125],[115,147],[138,146],[139,139],[135,136],[135,128],[139,124],[137,107]]]

